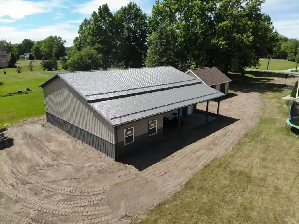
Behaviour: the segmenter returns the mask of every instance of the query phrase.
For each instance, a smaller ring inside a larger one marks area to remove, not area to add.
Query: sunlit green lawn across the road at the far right
[[[268,59],[260,60],[260,67],[258,69],[267,69]],[[252,67],[254,68],[254,67]],[[283,59],[270,59],[269,70],[286,70],[296,68],[296,62]]]

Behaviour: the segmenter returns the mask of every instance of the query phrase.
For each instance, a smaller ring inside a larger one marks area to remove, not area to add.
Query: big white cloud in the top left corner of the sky
[[[68,8],[68,0],[24,1],[0,0],[0,17],[10,16],[13,19],[23,19],[25,16],[50,12],[53,8]]]

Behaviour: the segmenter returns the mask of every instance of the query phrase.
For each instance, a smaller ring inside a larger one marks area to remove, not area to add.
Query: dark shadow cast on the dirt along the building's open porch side
[[[216,117],[216,114],[214,113],[209,113],[209,115]],[[176,129],[173,131],[172,135],[163,136],[162,140],[142,148],[142,150],[138,150],[138,154],[135,154],[137,153],[135,152],[126,156],[119,160],[119,162],[132,165],[139,171],[142,171],[182,148],[227,127],[236,121],[238,121],[236,118],[219,115],[217,119],[189,130],[183,129],[183,131],[180,131],[179,129]]]

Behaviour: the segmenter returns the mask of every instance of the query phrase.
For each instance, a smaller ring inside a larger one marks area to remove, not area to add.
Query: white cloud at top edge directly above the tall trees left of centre
[[[130,0],[92,0],[86,1],[85,3],[75,5],[76,9],[72,12],[81,13],[81,14],[91,14],[93,11],[97,11],[98,7],[103,4],[108,4],[110,11],[115,12],[121,6],[125,6],[130,2]]]

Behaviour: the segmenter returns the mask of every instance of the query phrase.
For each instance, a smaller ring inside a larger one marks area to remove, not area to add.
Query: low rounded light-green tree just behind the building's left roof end
[[[67,62],[69,71],[90,71],[101,68],[101,56],[91,47],[75,51]]]

